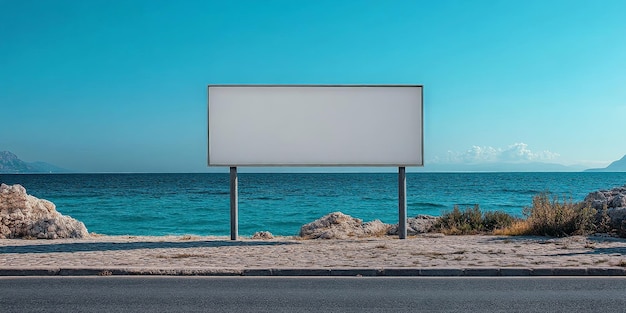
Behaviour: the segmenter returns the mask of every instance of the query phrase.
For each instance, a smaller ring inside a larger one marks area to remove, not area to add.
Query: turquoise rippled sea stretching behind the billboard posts
[[[0,174],[105,235],[230,234],[228,174]],[[541,192],[581,201],[626,173],[407,173],[407,213],[480,205],[522,216]],[[330,212],[398,221],[397,173],[239,174],[239,234],[296,235]]]

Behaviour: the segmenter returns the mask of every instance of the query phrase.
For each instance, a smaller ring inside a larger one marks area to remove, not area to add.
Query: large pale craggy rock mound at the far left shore
[[[87,236],[85,224],[57,212],[54,203],[28,195],[21,185],[0,185],[0,239]]]

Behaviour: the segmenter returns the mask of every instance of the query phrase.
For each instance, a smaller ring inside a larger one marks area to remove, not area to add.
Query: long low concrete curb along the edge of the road
[[[0,268],[0,276],[343,276],[343,277],[524,277],[626,276],[626,268]]]

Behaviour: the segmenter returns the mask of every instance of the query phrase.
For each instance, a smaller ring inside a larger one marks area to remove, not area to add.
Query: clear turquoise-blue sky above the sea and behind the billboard
[[[0,150],[204,172],[208,84],[422,84],[425,163],[626,154],[626,1],[0,0]],[[222,169],[220,169],[222,170]]]

